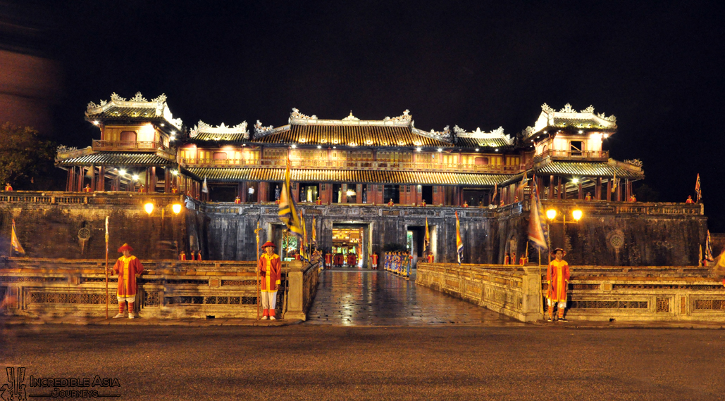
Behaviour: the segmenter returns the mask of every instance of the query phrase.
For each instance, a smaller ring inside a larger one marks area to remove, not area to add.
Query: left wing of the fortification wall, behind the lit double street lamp
[[[143,205],[151,202],[149,216]],[[104,258],[109,216],[109,258],[128,242],[143,259],[178,258],[179,250],[205,250],[207,224],[199,204],[186,200],[179,216],[171,210],[179,195],[138,193],[22,193],[0,196],[0,255],[10,250],[14,219],[25,256],[33,258]],[[175,242],[176,241],[176,242]],[[201,248],[199,248],[201,247]],[[14,254],[14,256],[18,256]]]

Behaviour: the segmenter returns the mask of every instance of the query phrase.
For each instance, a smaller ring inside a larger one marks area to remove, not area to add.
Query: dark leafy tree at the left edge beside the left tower
[[[32,179],[53,166],[55,145],[38,131],[6,122],[0,126],[0,185]]]

